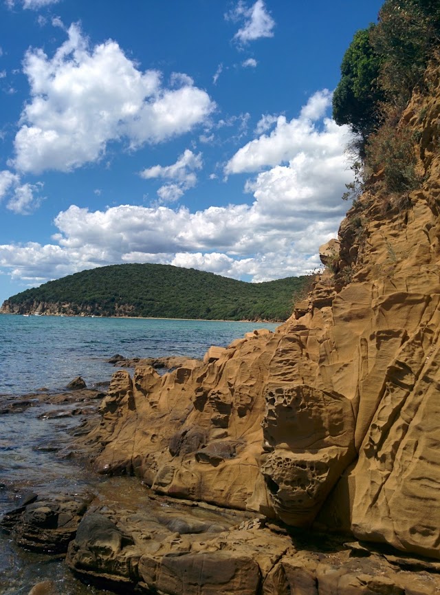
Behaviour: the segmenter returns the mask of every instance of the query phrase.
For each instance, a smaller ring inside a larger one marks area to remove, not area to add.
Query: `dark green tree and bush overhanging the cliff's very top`
[[[384,122],[381,105],[404,109],[439,43],[438,0],[385,0],[377,24],[355,33],[333,94],[333,118],[360,135],[362,158],[367,136]]]

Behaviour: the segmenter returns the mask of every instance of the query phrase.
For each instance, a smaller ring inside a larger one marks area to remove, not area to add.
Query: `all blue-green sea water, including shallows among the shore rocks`
[[[0,315],[0,396],[19,398],[40,387],[62,390],[75,376],[88,386],[109,380],[113,354],[127,358],[183,355],[201,358],[210,345],[228,345],[255,328],[277,325],[131,318]],[[58,406],[60,411],[66,405]],[[74,405],[72,405],[74,407]],[[98,477],[61,450],[81,417],[44,418],[53,404],[38,400],[22,413],[0,415],[0,515],[21,495],[91,492],[102,502],[149,506],[147,490],[131,477]],[[0,595],[28,595],[53,581],[63,595],[104,595],[69,572],[60,556],[26,552],[0,532]]]

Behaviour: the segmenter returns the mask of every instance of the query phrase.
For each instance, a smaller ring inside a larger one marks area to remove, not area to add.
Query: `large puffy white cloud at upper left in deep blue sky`
[[[70,171],[98,160],[110,140],[136,149],[190,131],[214,102],[190,77],[175,74],[170,87],[155,70],[141,72],[115,41],[89,47],[78,25],[52,58],[41,49],[25,55],[31,100],[21,114],[13,164],[23,172]]]

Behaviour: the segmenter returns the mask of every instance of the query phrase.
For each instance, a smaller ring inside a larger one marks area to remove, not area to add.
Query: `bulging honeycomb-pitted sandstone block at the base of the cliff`
[[[347,398],[307,385],[268,384],[263,438],[270,454],[261,473],[276,515],[309,526],[354,456],[354,416]]]

